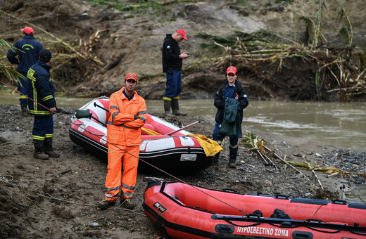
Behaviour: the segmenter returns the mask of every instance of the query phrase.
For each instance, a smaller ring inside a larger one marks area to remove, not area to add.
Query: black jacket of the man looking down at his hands
[[[179,58],[180,49],[177,41],[172,38],[172,34],[167,34],[163,43],[163,72],[170,68],[173,70],[182,70],[182,59]]]

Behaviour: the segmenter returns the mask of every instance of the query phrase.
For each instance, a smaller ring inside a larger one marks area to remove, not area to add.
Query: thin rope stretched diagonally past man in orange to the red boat
[[[4,84],[5,86],[8,86],[10,89],[13,89],[13,91],[16,91],[16,92],[20,93],[21,95],[23,95],[23,96],[27,97],[30,101],[33,101],[34,103],[37,103],[38,105],[41,105],[42,107],[44,107],[44,108],[46,108],[47,110],[51,111],[51,110],[50,110],[49,108],[47,108],[46,106],[42,105],[41,103],[35,102],[32,98],[29,98],[29,97],[28,97],[28,96],[26,96],[25,94],[21,93],[20,91],[18,91],[17,89],[13,88],[12,86],[9,86],[8,84],[6,84],[6,83],[2,82],[1,80],[0,80],[0,83],[1,83],[1,84]],[[99,106],[100,106],[100,105],[99,105]],[[104,109],[104,110],[106,110],[106,109]],[[51,112],[53,112],[53,111],[51,111]],[[64,120],[66,120],[66,121],[70,122],[71,124],[75,124],[74,122],[72,122],[72,120],[68,119],[67,117],[64,117],[63,115],[58,114],[58,112],[53,112],[53,113],[54,113],[55,115],[58,115],[59,117],[63,118]],[[81,124],[81,125],[80,125],[80,124],[75,124],[75,125],[78,125],[78,126],[82,127],[84,124]],[[88,131],[86,127],[84,127],[84,130]],[[120,149],[120,150],[124,151],[125,153],[127,153],[127,154],[131,155],[132,157],[136,157],[135,155],[132,155],[131,153],[127,152],[126,150],[123,150],[122,148],[120,148],[120,147],[116,146],[114,143],[110,143],[110,142],[108,142],[107,140],[103,139],[102,137],[100,137],[100,135],[98,135],[98,134],[94,134],[94,133],[92,133],[92,132],[90,132],[90,131],[88,131],[88,132],[89,132],[90,134],[93,134],[93,135],[97,136],[98,138],[102,139],[103,141],[106,141],[106,142],[108,143],[108,145],[115,146],[116,148],[118,148],[118,149]],[[103,136],[104,136],[104,135],[103,135]],[[166,174],[166,175],[168,175],[168,176],[172,177],[173,179],[176,179],[177,181],[180,181],[180,182],[182,182],[182,183],[185,183],[185,184],[187,184],[188,186],[191,186],[192,188],[194,188],[194,189],[196,189],[196,190],[199,190],[199,191],[201,191],[202,193],[205,193],[206,195],[210,196],[211,198],[214,198],[215,200],[218,200],[218,201],[220,201],[220,202],[222,202],[222,203],[224,203],[224,204],[228,205],[229,207],[232,207],[232,208],[234,208],[234,209],[238,210],[239,212],[241,212],[242,217],[244,217],[244,214],[245,214],[245,215],[248,215],[248,212],[244,212],[243,210],[241,210],[241,209],[239,209],[239,208],[236,208],[236,207],[234,207],[234,206],[232,206],[232,205],[229,205],[227,202],[224,202],[224,201],[222,201],[222,200],[220,200],[220,199],[218,199],[218,198],[215,198],[213,195],[210,195],[210,194],[208,194],[208,193],[206,193],[206,192],[203,192],[202,190],[200,190],[200,189],[196,188],[195,186],[193,186],[193,185],[191,185],[191,184],[187,183],[186,181],[183,181],[182,179],[179,179],[179,178],[177,178],[176,176],[174,176],[174,175],[172,175],[172,174],[169,174],[168,172],[165,172],[163,169],[160,169],[160,168],[158,168],[158,167],[154,166],[153,164],[151,164],[151,163],[149,163],[149,162],[146,162],[145,160],[141,160],[141,158],[139,158],[139,157],[137,157],[137,159],[138,159],[138,160],[140,160],[141,162],[144,162],[144,163],[148,164],[149,166],[151,166],[151,167],[153,167],[153,168],[155,168],[155,169],[158,169],[160,172],[163,172],[164,174]]]

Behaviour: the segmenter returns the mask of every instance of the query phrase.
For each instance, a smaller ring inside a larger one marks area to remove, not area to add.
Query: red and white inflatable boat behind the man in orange
[[[108,142],[106,123],[109,118],[109,98],[100,97],[82,106],[80,110],[89,110],[91,117],[72,117],[69,135],[75,144],[99,157],[108,159]],[[173,134],[169,134],[176,131]],[[156,135],[151,135],[156,134]],[[168,134],[168,135],[167,135]],[[153,170],[149,164],[159,169],[172,171],[175,169],[200,170],[212,163],[212,157],[206,156],[198,139],[187,136],[191,133],[179,130],[179,127],[148,115],[141,129],[139,152],[139,170]],[[146,164],[144,162],[148,162]]]

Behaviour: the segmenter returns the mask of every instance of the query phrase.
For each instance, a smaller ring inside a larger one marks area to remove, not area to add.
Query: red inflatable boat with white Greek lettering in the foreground
[[[172,238],[366,238],[366,205],[151,180],[143,207]]]

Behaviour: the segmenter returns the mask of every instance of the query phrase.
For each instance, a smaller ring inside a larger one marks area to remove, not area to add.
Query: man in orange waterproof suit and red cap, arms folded
[[[137,75],[128,73],[125,87],[112,93],[109,99],[108,173],[105,199],[98,204],[101,209],[114,205],[118,193],[121,193],[122,207],[133,209],[135,206],[131,199],[137,178],[141,127],[147,116],[145,100],[137,94],[136,88]]]

